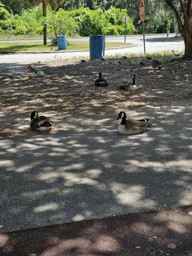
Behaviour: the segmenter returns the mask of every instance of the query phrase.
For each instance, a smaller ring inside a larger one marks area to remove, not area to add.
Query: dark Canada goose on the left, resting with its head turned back
[[[49,131],[51,129],[52,121],[46,116],[38,116],[37,111],[31,113],[31,129],[36,131]]]

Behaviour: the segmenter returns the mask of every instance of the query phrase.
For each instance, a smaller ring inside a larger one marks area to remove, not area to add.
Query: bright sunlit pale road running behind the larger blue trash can
[[[158,37],[159,35],[147,36],[147,38]],[[173,36],[173,35],[171,35]],[[127,36],[128,41],[134,44],[134,47],[124,49],[108,49],[106,50],[107,56],[115,56],[116,54],[127,54],[127,53],[143,53],[143,41],[142,36]],[[72,40],[88,40],[88,38],[73,38]],[[109,36],[108,41],[124,41],[122,36]],[[184,42],[146,42],[147,52],[157,52],[172,50],[184,51]],[[28,64],[36,63],[38,61],[57,60],[65,58],[89,58],[88,51],[76,51],[76,52],[52,52],[52,53],[35,53],[35,54],[0,54],[0,79],[4,76],[28,76]]]

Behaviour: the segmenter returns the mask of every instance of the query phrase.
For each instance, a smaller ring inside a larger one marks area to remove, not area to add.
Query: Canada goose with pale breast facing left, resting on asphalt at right
[[[138,134],[145,132],[148,127],[152,126],[152,124],[148,123],[148,118],[141,120],[126,120],[126,114],[123,111],[118,114],[116,120],[118,119],[122,120],[117,127],[119,134]]]

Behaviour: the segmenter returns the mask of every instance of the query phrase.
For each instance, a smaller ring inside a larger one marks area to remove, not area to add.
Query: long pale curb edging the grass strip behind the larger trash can
[[[132,44],[132,45],[127,45],[127,46],[111,47],[111,48],[106,48],[105,51],[115,50],[115,49],[125,49],[125,48],[134,47],[134,46],[137,46],[137,45]],[[22,52],[0,51],[0,54],[1,53],[3,53],[3,54],[26,54],[26,53],[29,53],[29,54],[55,53],[55,54],[58,54],[58,53],[67,53],[67,52],[89,52],[89,49],[87,49],[87,50],[74,50],[74,51],[70,50],[70,51],[42,51],[42,52],[37,52],[37,51],[22,51]]]

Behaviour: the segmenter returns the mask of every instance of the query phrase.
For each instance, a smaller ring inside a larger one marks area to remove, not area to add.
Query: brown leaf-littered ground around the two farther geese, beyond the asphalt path
[[[45,63],[45,77],[0,81],[0,135],[17,136],[28,130],[29,114],[34,109],[51,118],[79,116],[86,118],[95,113],[120,109],[136,109],[146,104],[191,100],[191,61],[166,60],[152,65],[152,60],[60,60]],[[96,88],[98,73],[108,79],[108,88]],[[142,88],[136,92],[120,91],[124,81]],[[58,124],[54,131],[59,129]],[[33,132],[32,132],[33,133]]]

